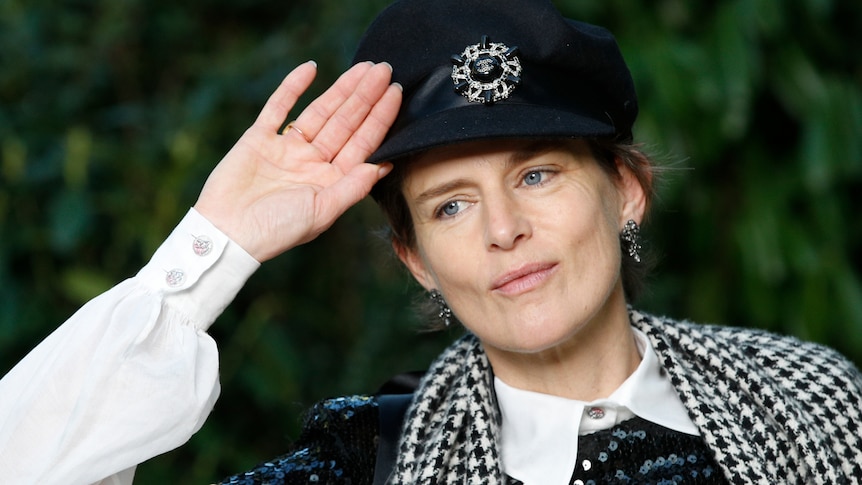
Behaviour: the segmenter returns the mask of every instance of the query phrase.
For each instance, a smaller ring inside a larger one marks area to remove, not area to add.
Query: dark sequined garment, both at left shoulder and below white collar
[[[295,451],[224,484],[372,483],[378,427],[372,397],[328,399],[312,407]],[[703,440],[640,418],[581,436],[572,485],[725,484]],[[522,482],[506,477],[509,485]]]

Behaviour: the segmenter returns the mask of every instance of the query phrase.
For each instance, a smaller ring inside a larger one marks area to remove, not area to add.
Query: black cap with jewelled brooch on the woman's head
[[[548,0],[400,0],[365,32],[361,61],[389,62],[404,87],[370,162],[491,138],[630,140],[637,117],[614,37]]]

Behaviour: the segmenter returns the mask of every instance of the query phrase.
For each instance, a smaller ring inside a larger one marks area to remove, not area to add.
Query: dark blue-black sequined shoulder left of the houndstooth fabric
[[[370,484],[378,433],[377,401],[369,396],[327,399],[311,408],[293,451],[224,484]]]

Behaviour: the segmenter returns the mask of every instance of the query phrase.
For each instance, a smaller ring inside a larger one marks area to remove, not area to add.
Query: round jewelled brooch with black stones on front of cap
[[[487,35],[482,36],[482,42],[452,56],[452,64],[455,91],[471,103],[494,104],[508,98],[521,84],[518,47],[491,42]]]

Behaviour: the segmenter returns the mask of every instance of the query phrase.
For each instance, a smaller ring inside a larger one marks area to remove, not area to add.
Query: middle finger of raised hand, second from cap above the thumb
[[[371,110],[389,89],[392,67],[377,64],[362,78],[362,81],[347,98],[315,138],[315,146],[328,160],[341,152],[344,144],[355,134]]]

